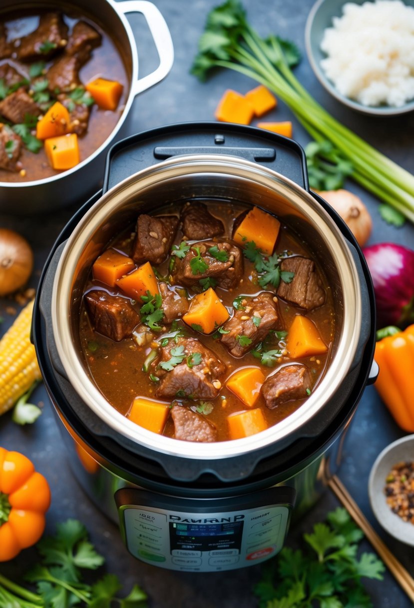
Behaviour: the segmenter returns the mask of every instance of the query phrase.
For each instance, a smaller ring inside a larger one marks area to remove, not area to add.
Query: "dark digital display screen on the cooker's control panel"
[[[171,550],[211,551],[214,549],[236,548],[240,551],[243,522],[170,522],[169,536]]]

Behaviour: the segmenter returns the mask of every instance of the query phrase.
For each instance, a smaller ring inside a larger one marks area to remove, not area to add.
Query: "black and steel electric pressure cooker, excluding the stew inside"
[[[117,412],[87,373],[77,331],[86,276],[110,238],[138,213],[190,198],[275,213],[323,268],[336,315],[330,365],[307,401],[259,434],[214,444],[163,437]],[[297,143],[250,126],[183,123],[111,148],[103,192],[50,252],[33,342],[73,472],[120,521],[128,550],[171,570],[231,570],[274,556],[291,517],[310,507],[321,477],[338,464],[344,432],[375,379],[375,300],[355,238],[309,190]]]

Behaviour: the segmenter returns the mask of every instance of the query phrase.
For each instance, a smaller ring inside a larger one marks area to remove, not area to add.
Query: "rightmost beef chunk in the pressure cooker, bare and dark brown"
[[[300,255],[285,258],[280,263],[280,270],[294,273],[291,283],[280,281],[277,288],[277,295],[280,298],[306,310],[324,304],[325,290],[312,260]]]

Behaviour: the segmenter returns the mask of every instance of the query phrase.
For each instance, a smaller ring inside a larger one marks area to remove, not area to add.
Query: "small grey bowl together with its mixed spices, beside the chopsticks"
[[[378,455],[368,494],[384,530],[414,546],[414,435],[394,441]]]

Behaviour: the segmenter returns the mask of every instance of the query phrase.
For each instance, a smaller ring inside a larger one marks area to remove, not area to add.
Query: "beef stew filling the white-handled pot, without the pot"
[[[75,10],[0,19],[0,182],[48,178],[112,133],[129,92],[127,67],[109,33]],[[119,87],[112,109],[92,88],[102,79]]]

